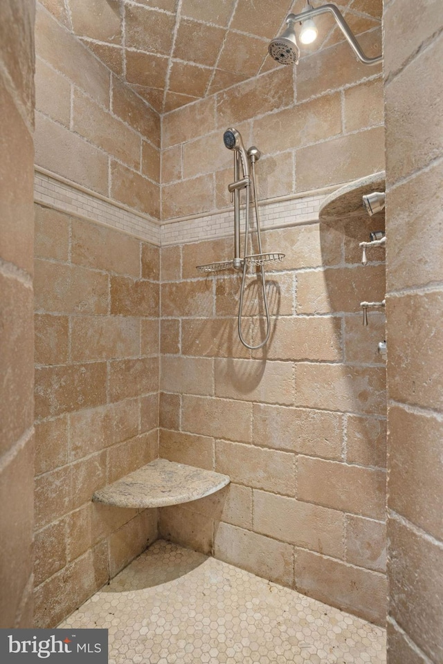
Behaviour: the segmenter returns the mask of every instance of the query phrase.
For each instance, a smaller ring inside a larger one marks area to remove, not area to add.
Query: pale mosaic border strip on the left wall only
[[[39,167],[35,167],[34,199],[36,203],[104,223],[160,246],[159,223]]]

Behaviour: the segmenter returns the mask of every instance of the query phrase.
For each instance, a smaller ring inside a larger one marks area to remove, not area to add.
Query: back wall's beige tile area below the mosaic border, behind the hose
[[[239,275],[200,277],[232,238],[161,250],[160,455],[230,475],[214,497],[163,508],[160,531],[204,553],[383,623],[386,618],[383,250],[358,243],[383,219],[264,233],[271,340],[237,337]],[[248,337],[257,284],[246,290]]]

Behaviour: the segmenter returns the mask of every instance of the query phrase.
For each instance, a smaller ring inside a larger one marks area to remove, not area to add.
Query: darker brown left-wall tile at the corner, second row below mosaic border
[[[158,317],[159,284],[144,279],[111,277],[111,314]]]

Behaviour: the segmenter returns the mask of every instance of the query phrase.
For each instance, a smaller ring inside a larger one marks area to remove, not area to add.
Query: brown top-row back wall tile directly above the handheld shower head
[[[266,51],[266,44],[264,44]],[[291,70],[291,71],[289,71]],[[291,67],[283,67],[217,95],[217,127],[224,128],[293,103]]]

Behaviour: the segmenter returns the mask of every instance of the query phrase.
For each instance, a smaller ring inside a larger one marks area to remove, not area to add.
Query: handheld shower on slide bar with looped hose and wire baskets
[[[229,268],[235,268],[237,270],[242,269],[242,286],[240,288],[240,301],[238,308],[238,335],[239,339],[246,348],[250,350],[257,350],[262,348],[266,342],[269,340],[269,335],[271,333],[271,320],[269,317],[269,307],[266,297],[266,275],[264,272],[264,264],[271,261],[278,262],[284,259],[284,254],[280,252],[262,252],[262,238],[260,235],[260,216],[258,212],[258,201],[257,201],[257,183],[255,180],[255,162],[260,159],[261,153],[260,150],[251,146],[248,151],[244,149],[242,136],[240,135],[237,129],[230,127],[226,129],[224,136],[224,145],[228,150],[234,151],[234,181],[228,185],[228,191],[231,194],[234,203],[234,258],[232,261],[218,261],[217,263],[210,263],[208,265],[199,265],[197,270],[201,273],[215,273],[219,270],[227,270]],[[240,178],[240,165],[242,166],[242,175]],[[245,196],[245,232],[244,232],[244,255],[243,258],[240,255],[240,194],[242,190],[246,190]],[[249,207],[250,203],[253,202],[255,210],[255,229],[257,232],[257,245],[259,252],[257,254],[248,254],[248,239],[249,239]],[[264,314],[266,317],[266,334],[264,340],[260,342],[257,346],[252,346],[244,340],[242,333],[242,310],[243,310],[243,299],[244,299],[244,289],[246,286],[246,275],[248,268],[251,266],[260,267],[260,276],[262,281],[262,297],[264,304]]]

